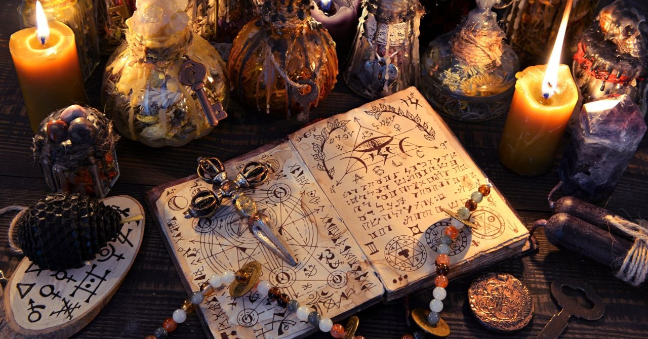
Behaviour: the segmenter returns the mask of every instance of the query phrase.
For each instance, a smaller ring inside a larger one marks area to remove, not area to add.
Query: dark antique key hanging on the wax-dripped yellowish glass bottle
[[[194,60],[189,59],[189,57],[186,58],[187,60],[185,60],[180,67],[180,82],[185,86],[191,86],[191,89],[193,89],[196,95],[198,95],[198,101],[205,112],[207,123],[209,126],[216,126],[218,121],[227,117],[227,113],[223,110],[223,105],[220,102],[211,104],[207,98],[207,93],[205,93],[205,76],[207,76],[207,68],[205,65],[200,64],[200,62],[195,62]]]

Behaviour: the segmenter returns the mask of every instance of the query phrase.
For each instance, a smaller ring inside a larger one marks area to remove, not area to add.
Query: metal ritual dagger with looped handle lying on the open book
[[[264,183],[269,174],[270,166],[267,163],[251,161],[232,181],[227,179],[227,172],[219,159],[198,158],[198,176],[212,185],[212,189],[194,194],[189,209],[184,213],[185,218],[211,218],[223,199],[230,198],[238,215],[248,218],[249,231],[259,242],[290,266],[297,266],[295,256],[281,239],[270,217],[257,211],[257,203],[243,193],[244,189]]]

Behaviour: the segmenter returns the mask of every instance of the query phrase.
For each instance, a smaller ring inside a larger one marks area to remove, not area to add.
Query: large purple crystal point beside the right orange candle
[[[584,104],[558,170],[564,194],[591,202],[609,196],[645,132],[627,95]]]

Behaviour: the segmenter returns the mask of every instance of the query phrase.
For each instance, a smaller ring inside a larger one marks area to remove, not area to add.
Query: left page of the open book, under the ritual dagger
[[[288,266],[262,246],[229,200],[211,219],[183,218],[192,195],[210,189],[194,176],[161,187],[155,202],[161,233],[188,289],[199,290],[212,274],[236,271],[255,260],[262,265],[261,279],[322,316],[357,312],[382,299],[384,289],[371,264],[291,143],[266,146],[228,161],[229,178],[252,160],[267,161],[272,176],[246,194],[272,218],[299,264]],[[215,338],[297,338],[319,331],[268,302],[256,289],[231,298],[222,288],[202,303],[201,311]]]

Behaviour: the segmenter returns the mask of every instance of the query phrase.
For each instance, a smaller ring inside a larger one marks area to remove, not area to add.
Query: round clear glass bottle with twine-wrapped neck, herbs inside
[[[467,21],[436,38],[423,56],[421,88],[434,109],[461,121],[485,121],[509,110],[520,68],[502,42],[504,32],[491,7],[478,0]]]

